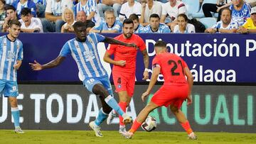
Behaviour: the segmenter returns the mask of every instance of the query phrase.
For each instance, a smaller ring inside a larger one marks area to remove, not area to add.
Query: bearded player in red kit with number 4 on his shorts
[[[123,33],[118,35],[116,40],[120,40],[124,43],[134,43],[137,48],[142,52],[144,60],[144,73],[143,79],[149,78],[149,55],[146,52],[146,45],[139,35],[133,33],[134,23],[132,19],[127,18],[123,23]],[[114,55],[114,60],[110,57]],[[119,95],[119,106],[123,111],[126,111],[129,102],[134,94],[135,85],[135,72],[136,72],[136,56],[137,50],[121,45],[110,45],[110,48],[105,52],[104,60],[110,64],[113,64],[112,76],[115,86],[115,91]],[[109,118],[107,118],[107,124],[111,123],[113,118],[112,113],[110,113]],[[124,123],[122,123],[122,116],[119,116],[119,133],[125,131]]]

